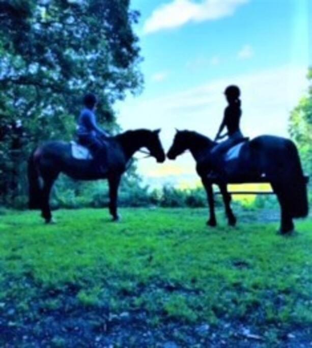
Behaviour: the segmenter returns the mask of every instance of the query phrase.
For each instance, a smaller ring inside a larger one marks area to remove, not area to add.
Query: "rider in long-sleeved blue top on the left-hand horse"
[[[84,109],[82,109],[77,125],[78,143],[86,146],[92,152],[97,169],[103,173],[107,171],[107,153],[105,139],[108,133],[98,127],[95,109],[97,98],[93,93],[87,93],[83,98]]]

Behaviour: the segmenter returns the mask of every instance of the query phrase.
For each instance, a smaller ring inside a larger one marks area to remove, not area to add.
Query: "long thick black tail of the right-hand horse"
[[[286,174],[287,186],[285,198],[293,218],[304,218],[308,215],[308,199],[306,178],[303,175],[298,150],[293,142],[289,148],[289,168]]]

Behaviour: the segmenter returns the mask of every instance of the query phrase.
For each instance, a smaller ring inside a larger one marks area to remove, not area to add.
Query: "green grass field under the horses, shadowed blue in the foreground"
[[[312,346],[312,220],[206,209],[0,215],[0,346]]]

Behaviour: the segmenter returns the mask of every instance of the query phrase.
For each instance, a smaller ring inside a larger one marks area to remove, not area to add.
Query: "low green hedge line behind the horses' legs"
[[[125,176],[119,190],[119,206],[121,207],[207,207],[206,192],[202,187],[179,189],[170,184],[160,189],[151,189],[148,185],[139,184],[139,178]],[[243,198],[234,201],[236,206],[244,209],[278,209],[275,196],[257,196],[256,199]],[[312,200],[312,195],[311,195]],[[93,182],[75,182],[62,176],[54,185],[50,205],[52,209],[79,209],[108,207],[108,185],[104,180]],[[215,195],[216,207],[223,208],[221,195]],[[11,204],[15,209],[27,208],[27,196],[18,196]]]

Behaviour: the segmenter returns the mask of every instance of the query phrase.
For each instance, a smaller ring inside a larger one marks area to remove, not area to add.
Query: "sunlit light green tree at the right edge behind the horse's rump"
[[[309,89],[292,111],[289,132],[296,142],[305,172],[312,175],[312,68],[307,74]]]

